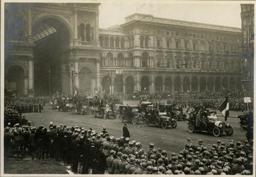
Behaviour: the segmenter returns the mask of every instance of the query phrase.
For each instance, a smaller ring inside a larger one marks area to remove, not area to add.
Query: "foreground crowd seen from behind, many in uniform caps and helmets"
[[[190,138],[178,154],[142,149],[142,143],[128,137],[110,136],[79,126],[48,127],[15,124],[4,131],[4,155],[26,155],[32,160],[55,158],[71,166],[73,172],[88,174],[253,174],[253,141],[228,144],[218,140],[211,147]],[[106,171],[107,170],[107,171]]]

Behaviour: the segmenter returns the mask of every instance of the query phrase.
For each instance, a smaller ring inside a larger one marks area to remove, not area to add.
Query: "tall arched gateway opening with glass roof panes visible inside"
[[[54,16],[43,17],[32,26],[34,37],[34,90],[37,95],[63,92],[61,82],[68,85],[70,71],[67,49],[70,31],[60,19]],[[65,67],[61,64],[65,63]],[[62,74],[61,74],[62,73]]]

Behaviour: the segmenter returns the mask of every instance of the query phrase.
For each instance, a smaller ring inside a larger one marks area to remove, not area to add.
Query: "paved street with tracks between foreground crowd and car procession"
[[[124,101],[126,104],[126,102]],[[131,103],[130,103],[131,104]],[[239,115],[242,112],[230,112],[230,115]],[[85,127],[86,129],[92,128],[97,132],[102,131],[102,127],[106,127],[110,135],[115,137],[122,136],[122,126],[116,119],[104,120],[103,118],[93,118],[92,115],[74,115],[71,112],[59,112],[58,110],[51,110],[51,107],[45,106],[42,113],[27,113],[26,118],[35,122],[36,126],[44,125],[49,128],[50,121],[53,124],[67,124],[68,126]],[[224,118],[220,117],[219,120],[224,121]],[[221,137],[214,137],[210,133],[189,133],[187,129],[187,121],[177,121],[177,128],[162,129],[156,126],[144,126],[142,122],[137,125],[128,124],[128,129],[131,133],[131,140],[140,141],[143,144],[143,149],[148,149],[148,144],[154,142],[155,147],[162,148],[168,152],[178,153],[184,148],[186,139],[190,137],[193,143],[197,144],[198,139],[202,139],[205,146],[209,147],[212,143],[216,143],[218,139],[228,143],[230,139],[235,141],[244,141],[245,131],[239,127],[238,118],[228,118],[227,121],[233,126],[234,134],[232,136],[222,135]]]

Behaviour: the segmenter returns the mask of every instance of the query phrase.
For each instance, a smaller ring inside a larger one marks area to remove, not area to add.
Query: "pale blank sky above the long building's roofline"
[[[99,6],[99,28],[121,25],[125,23],[125,17],[134,13],[241,28],[240,4],[219,2],[103,0]]]

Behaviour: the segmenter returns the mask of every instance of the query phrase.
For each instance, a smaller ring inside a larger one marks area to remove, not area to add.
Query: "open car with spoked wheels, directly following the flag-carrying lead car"
[[[166,112],[159,112],[157,110],[154,111],[154,115],[148,114],[147,116],[144,116],[143,122],[145,126],[153,124],[162,126],[163,129],[166,129],[168,126],[172,126],[173,128],[177,127],[177,122],[174,118],[170,118]]]

